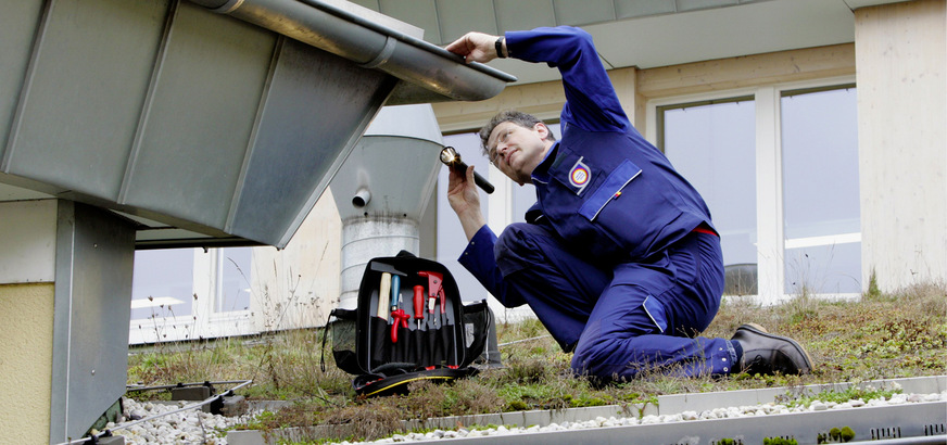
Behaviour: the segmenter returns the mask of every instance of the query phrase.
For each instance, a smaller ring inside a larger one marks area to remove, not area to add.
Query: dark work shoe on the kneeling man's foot
[[[809,354],[795,340],[774,335],[756,323],[736,328],[732,341],[740,342],[740,370],[760,374],[805,374],[812,371]]]

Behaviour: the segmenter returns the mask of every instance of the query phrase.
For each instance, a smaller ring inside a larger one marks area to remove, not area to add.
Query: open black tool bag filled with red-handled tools
[[[490,317],[485,301],[462,304],[446,267],[402,251],[368,262],[357,308],[332,310],[327,331],[336,365],[357,376],[357,394],[406,394],[411,382],[476,373]]]

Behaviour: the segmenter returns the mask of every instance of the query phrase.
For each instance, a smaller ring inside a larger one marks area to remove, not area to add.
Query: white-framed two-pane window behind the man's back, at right
[[[862,289],[850,82],[649,103],[647,134],[707,201],[728,269],[746,266],[762,301]],[[731,278],[728,270],[728,290]]]

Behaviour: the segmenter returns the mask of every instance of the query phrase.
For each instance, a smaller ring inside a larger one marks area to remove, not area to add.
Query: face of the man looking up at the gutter
[[[520,186],[530,182],[530,175],[552,145],[545,140],[547,135],[548,128],[542,123],[532,128],[501,123],[487,140],[490,162]]]

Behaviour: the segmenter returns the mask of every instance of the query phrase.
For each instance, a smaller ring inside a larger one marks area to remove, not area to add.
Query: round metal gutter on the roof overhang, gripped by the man
[[[388,104],[479,101],[516,81],[326,0],[191,1],[404,80]]]

